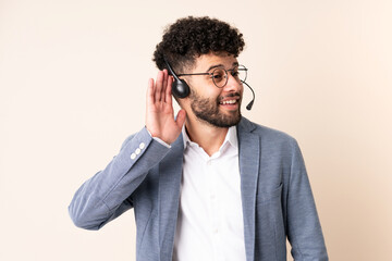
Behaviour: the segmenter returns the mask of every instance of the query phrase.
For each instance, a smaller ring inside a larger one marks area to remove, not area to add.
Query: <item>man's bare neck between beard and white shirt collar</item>
[[[212,156],[222,146],[229,128],[216,127],[197,119],[186,119],[185,127],[189,139]]]

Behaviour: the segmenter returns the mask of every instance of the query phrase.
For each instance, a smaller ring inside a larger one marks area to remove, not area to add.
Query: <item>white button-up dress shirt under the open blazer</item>
[[[189,140],[185,127],[183,137],[173,260],[245,260],[236,127],[229,128],[219,151],[211,157]]]

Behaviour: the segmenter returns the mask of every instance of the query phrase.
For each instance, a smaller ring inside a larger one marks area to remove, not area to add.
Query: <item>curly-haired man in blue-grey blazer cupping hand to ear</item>
[[[244,45],[209,17],[166,30],[146,126],[76,191],[77,226],[99,229],[134,208],[139,261],[281,261],[286,238],[295,260],[328,260],[296,141],[241,115]]]

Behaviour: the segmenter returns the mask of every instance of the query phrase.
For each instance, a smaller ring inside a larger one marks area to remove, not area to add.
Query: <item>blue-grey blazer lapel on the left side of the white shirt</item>
[[[174,233],[179,213],[183,154],[183,137],[180,135],[172,144],[169,154],[159,164],[158,215],[161,261],[172,260]]]

